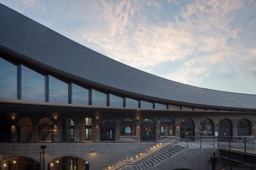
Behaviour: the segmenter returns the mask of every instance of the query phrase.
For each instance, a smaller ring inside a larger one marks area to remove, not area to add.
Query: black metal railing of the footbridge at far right
[[[256,154],[256,138],[218,136],[218,148]]]

